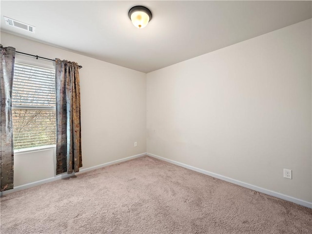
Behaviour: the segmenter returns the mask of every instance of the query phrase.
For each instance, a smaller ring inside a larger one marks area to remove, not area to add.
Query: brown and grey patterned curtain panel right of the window
[[[56,59],[57,175],[82,167],[78,71],[76,62]]]

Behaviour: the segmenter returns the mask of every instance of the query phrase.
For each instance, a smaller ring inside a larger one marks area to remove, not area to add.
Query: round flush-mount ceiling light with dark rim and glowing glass
[[[137,28],[144,28],[152,20],[152,12],[145,6],[134,6],[129,10],[129,18]]]

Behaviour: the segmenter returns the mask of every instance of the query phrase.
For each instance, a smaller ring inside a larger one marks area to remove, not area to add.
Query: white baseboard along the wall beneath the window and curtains
[[[139,155],[134,155],[134,156],[130,156],[130,157],[121,158],[121,159],[118,159],[118,160],[115,160],[115,161],[112,161],[112,162],[103,163],[103,164],[100,164],[100,165],[97,165],[97,166],[94,166],[94,167],[81,169],[77,173],[74,173],[74,172],[72,174],[63,173],[63,174],[58,175],[58,176],[54,176],[54,177],[50,177],[50,178],[46,178],[46,179],[41,179],[41,180],[34,181],[34,182],[31,182],[31,183],[28,183],[28,184],[23,184],[23,185],[20,185],[20,186],[16,186],[13,189],[10,189],[10,190],[7,190],[7,191],[3,191],[3,192],[0,193],[0,195],[2,196],[2,195],[15,193],[15,192],[18,192],[18,191],[21,191],[21,190],[24,190],[24,189],[29,189],[29,188],[32,188],[32,187],[35,187],[35,186],[38,186],[38,185],[41,185],[41,184],[49,183],[49,182],[56,181],[56,180],[59,180],[59,179],[64,179],[64,178],[67,178],[67,177],[70,177],[70,176],[75,176],[75,175],[78,175],[80,173],[89,172],[89,171],[92,171],[92,170],[95,170],[95,169],[98,169],[98,168],[101,168],[101,167],[107,167],[109,165],[113,165],[113,164],[116,164],[116,163],[128,161],[128,160],[131,160],[131,159],[134,159],[134,158],[137,158],[137,157],[141,157],[141,156],[145,156],[145,155],[147,155],[147,154],[146,153],[142,153],[142,154],[139,154]]]

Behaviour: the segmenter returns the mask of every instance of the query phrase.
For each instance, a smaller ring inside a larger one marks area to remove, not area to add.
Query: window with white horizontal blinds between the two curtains
[[[56,144],[55,71],[15,63],[12,90],[14,149]]]

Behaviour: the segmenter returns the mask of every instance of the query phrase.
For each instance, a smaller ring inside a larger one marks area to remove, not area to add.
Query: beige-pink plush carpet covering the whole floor
[[[311,234],[312,210],[155,158],[1,197],[1,234]]]

